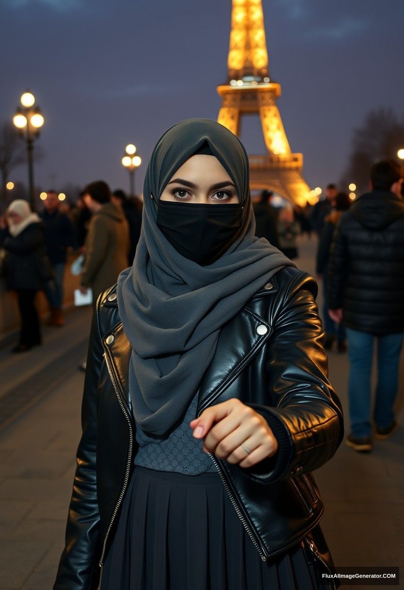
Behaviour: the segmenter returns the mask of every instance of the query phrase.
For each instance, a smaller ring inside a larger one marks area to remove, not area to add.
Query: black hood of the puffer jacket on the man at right
[[[372,191],[362,195],[350,210],[368,230],[384,230],[404,214],[404,202],[393,192]]]

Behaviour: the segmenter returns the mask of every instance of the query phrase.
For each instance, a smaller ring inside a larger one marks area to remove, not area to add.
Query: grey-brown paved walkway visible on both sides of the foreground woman
[[[298,261],[311,273],[314,246],[314,238],[302,241]],[[83,373],[76,366],[86,349],[88,326],[89,314],[76,310],[62,329],[45,330],[42,350],[18,360],[0,352],[2,394],[10,396],[12,391],[19,412],[0,431],[1,590],[53,586],[80,438]],[[60,358],[63,366],[55,370]],[[49,362],[52,388],[44,382],[41,388],[38,375],[43,378]],[[346,355],[330,353],[330,377],[347,415]],[[27,400],[27,387],[37,401],[21,414],[18,396]],[[402,395],[398,406],[402,408]],[[391,440],[376,442],[371,454],[357,454],[343,444],[333,460],[315,472],[325,502],[322,528],[336,565],[403,565],[402,412],[399,421],[401,428]]]

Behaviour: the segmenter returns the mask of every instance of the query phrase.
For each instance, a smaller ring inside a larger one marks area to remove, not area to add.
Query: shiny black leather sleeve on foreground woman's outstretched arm
[[[247,468],[262,483],[318,469],[333,457],[344,435],[341,402],[327,378],[316,294],[317,284],[307,273],[289,284],[267,345],[272,405],[246,404],[266,419],[278,440],[273,457]]]

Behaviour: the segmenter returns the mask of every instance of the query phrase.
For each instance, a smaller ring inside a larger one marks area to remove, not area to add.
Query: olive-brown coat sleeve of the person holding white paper
[[[90,287],[99,271],[108,250],[109,235],[103,219],[95,216],[89,227],[89,234],[86,240],[86,258],[81,278],[84,287]]]

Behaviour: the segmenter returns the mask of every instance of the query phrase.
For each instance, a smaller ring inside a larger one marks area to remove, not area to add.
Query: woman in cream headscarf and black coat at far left
[[[43,289],[40,264],[46,256],[43,222],[27,201],[16,199],[9,205],[1,221],[0,243],[6,251],[6,284],[17,293],[21,315],[19,342],[12,352],[25,352],[41,344],[35,296]]]

